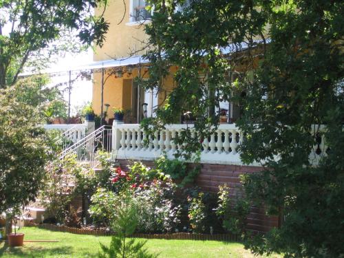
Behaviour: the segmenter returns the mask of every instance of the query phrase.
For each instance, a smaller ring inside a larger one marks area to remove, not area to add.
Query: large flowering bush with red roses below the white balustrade
[[[129,171],[123,171],[120,167],[112,168],[107,160],[103,160],[103,163],[103,169],[109,171],[104,174],[105,183],[96,184],[97,180],[93,177],[92,186],[86,187],[103,186],[91,197],[89,213],[96,224],[109,226],[117,213],[116,204],[125,193],[131,193],[131,200],[137,206],[139,232],[168,232],[178,224],[180,206],[175,205],[175,184],[168,177],[140,162],[135,162]],[[85,177],[85,174],[81,176]],[[80,184],[80,191],[85,189],[85,185]],[[106,189],[105,185],[108,186]]]

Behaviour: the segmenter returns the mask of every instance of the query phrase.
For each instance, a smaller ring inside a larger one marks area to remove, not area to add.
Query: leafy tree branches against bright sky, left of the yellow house
[[[103,45],[108,24],[94,8],[106,0],[0,1],[0,87],[13,85],[24,65],[44,65],[59,50]],[[58,40],[62,43],[56,44]]]

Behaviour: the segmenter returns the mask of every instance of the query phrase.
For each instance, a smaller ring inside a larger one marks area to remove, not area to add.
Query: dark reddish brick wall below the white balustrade
[[[128,160],[120,160],[122,169],[125,169],[130,163]],[[151,161],[143,163],[147,166],[154,165]],[[196,184],[204,191],[213,193],[217,193],[220,185],[227,184],[230,187],[230,195],[239,197],[243,193],[239,176],[244,173],[256,173],[260,170],[261,167],[259,166],[202,164]],[[251,207],[250,215],[248,216],[248,229],[266,232],[274,226],[278,226],[278,217],[268,217],[265,215],[264,207]]]

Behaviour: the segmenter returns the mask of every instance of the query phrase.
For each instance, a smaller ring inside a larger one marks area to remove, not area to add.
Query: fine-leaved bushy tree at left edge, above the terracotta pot
[[[36,199],[51,156],[36,109],[19,102],[12,87],[0,91],[0,107],[0,211],[6,211]]]

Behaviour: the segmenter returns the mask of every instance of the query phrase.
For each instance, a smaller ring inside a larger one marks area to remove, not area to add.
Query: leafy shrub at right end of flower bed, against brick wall
[[[240,235],[245,232],[246,219],[250,213],[250,204],[243,197],[232,200],[229,187],[219,186],[215,213],[222,220],[222,226],[230,233]]]

